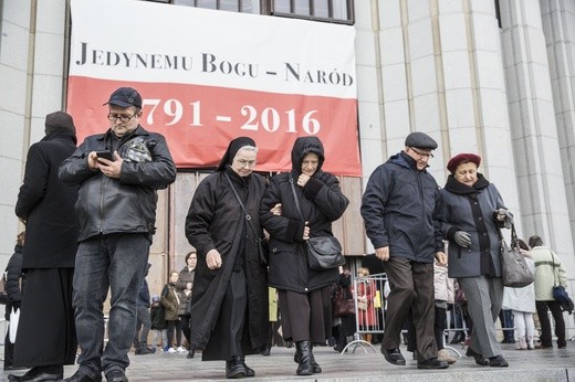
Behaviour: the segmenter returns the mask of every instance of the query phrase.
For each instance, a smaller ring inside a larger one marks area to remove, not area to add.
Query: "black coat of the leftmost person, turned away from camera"
[[[28,151],[15,214],[25,221],[22,269],[73,268],[77,250],[74,203],[77,185],[58,179],[60,165],[76,149],[67,129],[46,135]]]

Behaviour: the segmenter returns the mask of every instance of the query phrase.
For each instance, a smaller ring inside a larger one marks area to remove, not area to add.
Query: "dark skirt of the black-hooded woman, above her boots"
[[[284,340],[325,343],[325,340],[332,337],[330,286],[307,294],[278,290],[278,297]]]

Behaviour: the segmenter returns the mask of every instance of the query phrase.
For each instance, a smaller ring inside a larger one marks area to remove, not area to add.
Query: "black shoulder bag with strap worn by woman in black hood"
[[[295,193],[293,179],[290,177],[290,185],[292,187],[293,199],[295,200],[295,209],[300,217],[305,222],[302,210],[300,209],[300,200]],[[337,268],[345,264],[345,257],[342,254],[342,245],[335,236],[317,236],[310,237],[306,243],[307,265],[313,270]]]

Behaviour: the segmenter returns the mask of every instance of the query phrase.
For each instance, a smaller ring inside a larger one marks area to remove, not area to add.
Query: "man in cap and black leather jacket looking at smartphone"
[[[86,137],[60,167],[60,179],[80,185],[74,274],[80,368],[64,381],[127,381],[136,327],[136,299],[146,273],[156,220],[157,190],[176,179],[166,139],[139,125],[142,96],[132,87],[112,93],[109,128]],[[111,289],[108,342],[103,305]]]

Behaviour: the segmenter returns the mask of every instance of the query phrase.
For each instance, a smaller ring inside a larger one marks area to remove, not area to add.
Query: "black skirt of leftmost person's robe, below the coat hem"
[[[14,365],[74,364],[73,268],[29,269],[14,343]]]

